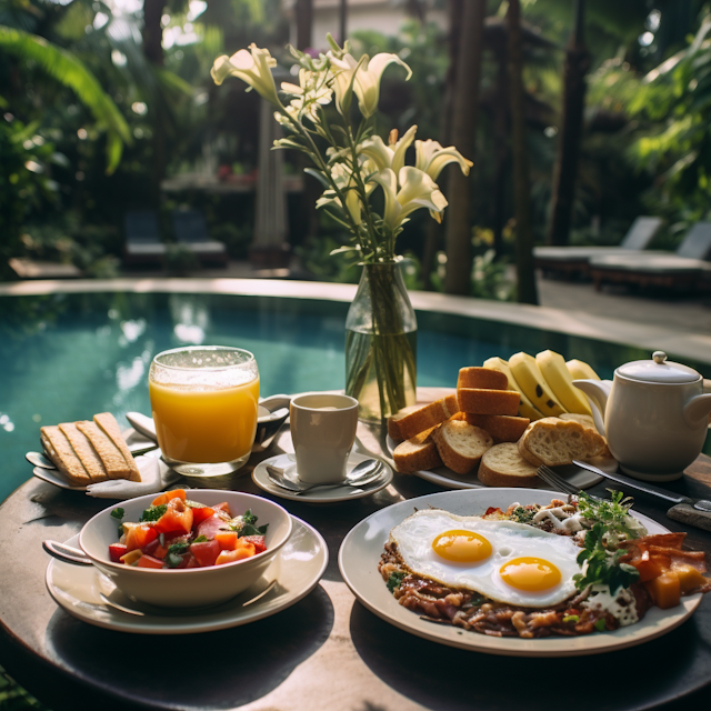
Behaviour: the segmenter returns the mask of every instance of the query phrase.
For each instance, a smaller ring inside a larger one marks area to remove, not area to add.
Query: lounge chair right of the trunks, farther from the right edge
[[[535,266],[544,274],[552,272],[590,276],[590,260],[595,257],[625,254],[647,249],[662,226],[661,218],[639,217],[619,247],[537,247]]]

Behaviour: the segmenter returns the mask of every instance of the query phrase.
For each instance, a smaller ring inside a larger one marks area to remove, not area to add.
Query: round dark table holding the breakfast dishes
[[[432,399],[439,390],[422,389]],[[264,494],[249,473],[291,451],[282,431],[232,481]],[[359,425],[357,447],[383,455],[380,428]],[[670,484],[709,498],[711,459],[701,457]],[[220,632],[137,635],[92,627],[57,607],[44,587],[41,542],[63,541],[110,501],[32,479],[0,507],[0,664],[53,711],[68,709],[249,709],[259,711],[493,710],[573,705],[577,711],[703,709],[711,701],[711,600],[677,630],[619,652],[570,659],[490,657],[408,634],[368,612],[341,580],[346,533],[373,511],[440,491],[395,474],[383,491],[318,505],[280,500],[329,544],[327,572],[307,598],[271,618]],[[604,485],[592,492],[602,494]],[[630,492],[633,493],[633,492]],[[669,529],[665,507],[635,495],[635,508]],[[711,554],[711,533],[688,529]],[[375,564],[375,561],[373,561]]]

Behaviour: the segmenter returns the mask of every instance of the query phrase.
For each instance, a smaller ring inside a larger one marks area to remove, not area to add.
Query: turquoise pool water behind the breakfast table
[[[90,293],[0,298],[0,500],[31,475],[24,452],[42,424],[110,411],[121,424],[149,413],[148,368],[186,343],[238,346],[259,363],[261,393],[343,387],[348,303],[303,299]],[[457,382],[462,365],[551,348],[589,362],[601,377],[649,358],[625,348],[464,317],[418,313],[418,384]],[[685,361],[689,362],[689,361]],[[704,377],[708,365],[689,363]]]

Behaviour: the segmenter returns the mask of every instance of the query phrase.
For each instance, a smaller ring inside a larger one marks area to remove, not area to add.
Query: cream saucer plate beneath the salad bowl
[[[293,531],[271,565],[251,588],[228,602],[200,610],[176,611],[132,602],[113,583],[89,565],[72,565],[52,559],[46,583],[54,601],[84,622],[137,634],[190,634],[239,627],[268,618],[304,598],[329,562],[321,534],[301,519],[293,518]],[[79,545],[79,537],[67,541]],[[142,617],[122,612],[101,599],[101,593]]]

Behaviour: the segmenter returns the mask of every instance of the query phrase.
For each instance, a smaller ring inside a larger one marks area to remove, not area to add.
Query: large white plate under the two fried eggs
[[[637,624],[614,632],[597,632],[581,637],[551,637],[539,640],[489,637],[450,624],[437,624],[422,619],[398,603],[378,572],[378,562],[388,542],[390,530],[408,518],[415,509],[435,507],[461,515],[480,515],[489,507],[550,503],[560,494],[539,489],[473,489],[444,491],[427,497],[409,499],[381,509],[363,519],[343,539],[338,562],[343,580],[353,594],[371,612],[395,627],[450,647],[459,647],[488,654],[508,657],[574,657],[599,654],[634,647],[671,632],[691,617],[701,602],[701,593],[682,598],[681,604],[671,610],[652,608]],[[669,533],[652,519],[633,512],[650,533]]]

